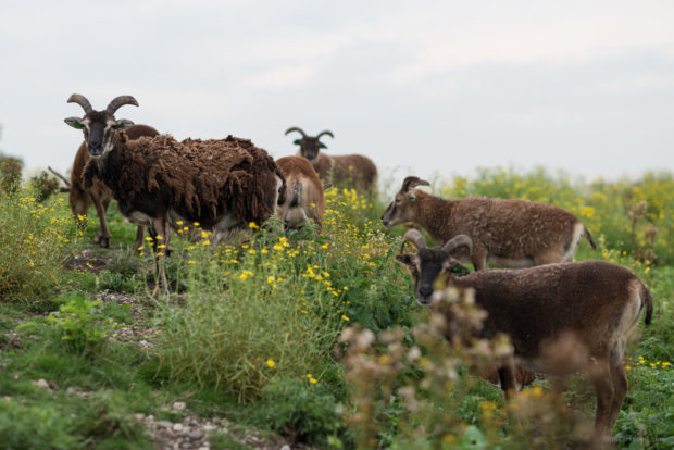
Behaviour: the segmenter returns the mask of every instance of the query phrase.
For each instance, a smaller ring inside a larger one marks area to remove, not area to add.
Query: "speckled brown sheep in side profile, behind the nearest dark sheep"
[[[520,199],[473,197],[444,200],[415,186],[428,182],[408,176],[394,201],[382,214],[382,223],[392,227],[411,222],[424,228],[437,242],[457,235],[473,241],[473,254],[458,253],[476,271],[488,263],[521,268],[573,261],[581,237],[597,246],[581,221],[567,211]]]

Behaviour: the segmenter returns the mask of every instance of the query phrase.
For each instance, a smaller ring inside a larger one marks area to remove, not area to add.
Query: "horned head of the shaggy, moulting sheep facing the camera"
[[[84,117],[67,117],[65,123],[73,128],[82,129],[87,143],[87,152],[91,158],[99,158],[114,148],[114,132],[125,129],[134,125],[127,118],[115,118],[114,113],[124,104],[138,105],[132,96],[120,96],[114,98],[103,111],[95,111],[86,97],[73,93],[68,103],[77,103],[85,111]]]

